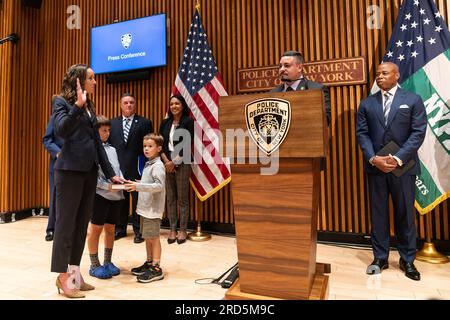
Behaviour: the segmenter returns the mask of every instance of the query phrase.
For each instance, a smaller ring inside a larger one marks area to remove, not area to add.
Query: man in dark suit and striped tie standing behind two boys
[[[136,98],[125,93],[121,98],[122,115],[111,121],[109,141],[116,148],[120,169],[127,180],[139,180],[138,158],[143,156],[143,141],[146,134],[153,132],[153,125],[149,119],[136,114]],[[139,216],[136,214],[138,194],[132,192],[132,223],[134,242],[144,241],[140,232]],[[116,225],[116,240],[127,235],[128,214],[130,208],[130,193],[125,192],[123,210]]]

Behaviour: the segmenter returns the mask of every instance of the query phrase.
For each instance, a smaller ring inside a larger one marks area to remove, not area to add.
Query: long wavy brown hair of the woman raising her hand
[[[85,64],[75,64],[67,69],[61,86],[60,96],[70,104],[75,104],[77,101],[77,78],[80,79],[81,88],[84,90],[88,69],[89,66]],[[94,110],[94,104],[89,97],[86,103],[89,109]]]

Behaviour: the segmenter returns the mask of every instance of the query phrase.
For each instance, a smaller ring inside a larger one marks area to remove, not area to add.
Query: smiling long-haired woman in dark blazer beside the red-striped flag
[[[161,123],[164,137],[161,159],[166,166],[167,216],[170,223],[169,244],[186,242],[189,217],[189,178],[191,176],[194,121],[189,117],[189,107],[181,95],[170,98],[168,118]],[[180,231],[177,235],[180,207]]]

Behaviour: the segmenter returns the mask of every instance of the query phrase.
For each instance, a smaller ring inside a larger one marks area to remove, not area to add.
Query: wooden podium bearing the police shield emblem
[[[270,164],[252,158],[253,139],[229,138],[233,130],[247,130],[251,114],[247,105],[261,99],[281,99],[291,105],[290,127],[279,147],[275,175],[261,175]],[[323,273],[329,273],[330,266],[316,264],[320,164],[328,152],[323,101],[321,90],[220,98],[222,154],[231,161],[239,260],[239,279],[226,299],[327,298],[328,276]],[[242,156],[238,158],[242,150],[245,163]]]

